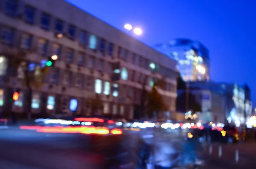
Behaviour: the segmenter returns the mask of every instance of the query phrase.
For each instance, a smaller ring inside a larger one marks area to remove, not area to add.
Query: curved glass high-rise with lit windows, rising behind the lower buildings
[[[159,52],[177,60],[177,70],[184,81],[209,81],[209,52],[200,42],[179,38],[168,43],[157,44],[154,47]],[[204,74],[198,72],[196,69],[198,65],[204,67]]]

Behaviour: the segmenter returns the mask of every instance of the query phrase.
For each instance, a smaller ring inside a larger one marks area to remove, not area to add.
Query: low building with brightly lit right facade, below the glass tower
[[[236,83],[191,82],[189,89],[191,91],[209,91],[208,94],[201,95],[202,114],[206,112],[205,114],[212,120],[215,120],[215,114],[219,113],[224,120],[233,121],[239,125],[245,123],[252,115],[252,102],[248,86],[239,86]],[[211,109],[207,110],[207,107],[211,107]]]

